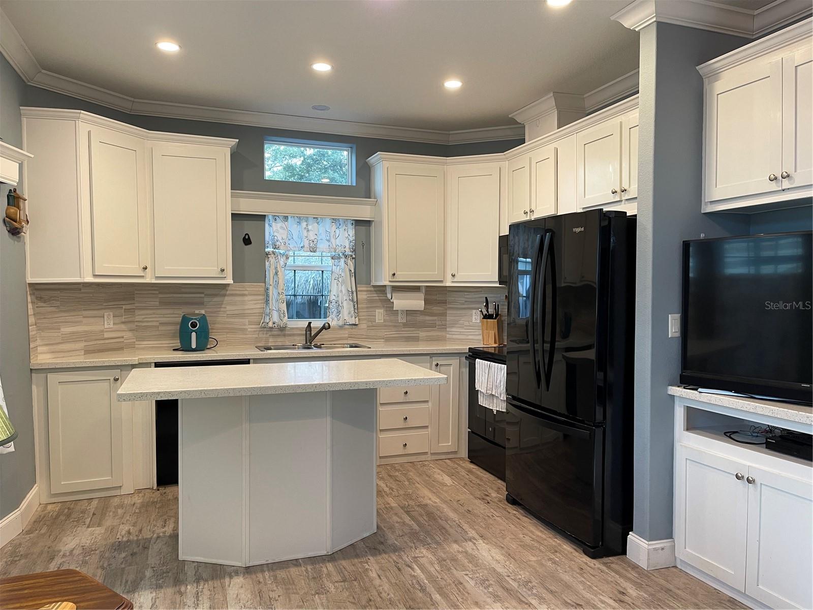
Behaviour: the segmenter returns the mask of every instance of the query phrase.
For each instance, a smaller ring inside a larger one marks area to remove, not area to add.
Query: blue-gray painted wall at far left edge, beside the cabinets
[[[21,148],[20,105],[25,85],[0,55],[0,137]],[[2,206],[8,187],[0,186]],[[24,185],[20,185],[24,193]],[[21,237],[0,230],[0,379],[11,423],[19,434],[15,451],[0,455],[0,519],[20,506],[36,482],[31,371],[28,357],[28,302],[25,247]]]

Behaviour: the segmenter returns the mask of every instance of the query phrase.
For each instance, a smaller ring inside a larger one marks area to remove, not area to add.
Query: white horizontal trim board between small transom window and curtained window
[[[232,214],[281,214],[372,220],[376,199],[232,191]]]

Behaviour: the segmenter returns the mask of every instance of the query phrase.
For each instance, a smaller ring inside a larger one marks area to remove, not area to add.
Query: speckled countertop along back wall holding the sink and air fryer
[[[341,342],[344,342],[342,340]],[[355,342],[350,339],[349,342]],[[122,364],[149,364],[152,362],[192,362],[194,360],[230,360],[250,358],[278,359],[303,358],[324,359],[334,356],[355,355],[358,357],[378,355],[410,355],[410,354],[465,354],[469,347],[480,346],[477,341],[381,341],[370,342],[359,340],[359,343],[371,349],[346,350],[280,350],[259,351],[256,346],[219,346],[206,351],[172,351],[172,348],[148,348],[131,351],[110,351],[93,355],[52,356],[35,358],[31,361],[31,368],[75,368],[75,367],[103,367],[120,366]],[[267,340],[268,344],[274,344]]]

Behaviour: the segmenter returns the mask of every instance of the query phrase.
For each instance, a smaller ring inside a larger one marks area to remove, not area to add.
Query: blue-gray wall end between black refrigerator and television
[[[680,312],[681,242],[748,233],[745,215],[703,215],[702,78],[695,68],[745,44],[672,24],[641,30],[635,329],[633,531],[672,538],[674,402],[680,339],[667,316]]]

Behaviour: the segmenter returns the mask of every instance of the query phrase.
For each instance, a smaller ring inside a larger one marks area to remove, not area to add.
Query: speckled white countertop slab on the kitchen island
[[[137,368],[121,384],[119,402],[292,394],[392,386],[432,386],[446,376],[395,358],[181,368]]]

